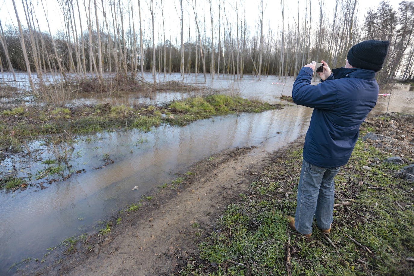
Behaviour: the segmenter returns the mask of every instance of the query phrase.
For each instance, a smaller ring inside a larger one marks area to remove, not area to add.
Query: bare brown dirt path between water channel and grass
[[[303,143],[301,139],[295,143]],[[114,214],[121,223],[91,235],[70,254],[33,275],[167,275],[197,254],[202,229],[211,230],[231,199],[248,188],[272,160],[256,147],[222,151],[194,164],[175,190],[166,188],[135,212]],[[208,231],[206,231],[208,232]],[[23,271],[20,271],[23,272]],[[27,271],[26,271],[27,274]]]

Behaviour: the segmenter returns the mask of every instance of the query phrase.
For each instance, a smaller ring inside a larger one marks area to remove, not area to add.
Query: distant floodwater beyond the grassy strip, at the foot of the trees
[[[36,74],[33,74],[33,77],[36,80]],[[147,81],[152,82],[152,74],[145,73],[144,78]],[[18,72],[17,79],[18,82],[14,82],[12,80],[12,74],[7,72],[0,75],[0,82],[5,82],[11,86],[16,86],[19,89],[29,88],[29,80],[26,73]],[[43,79],[46,81],[53,81],[56,79],[56,76],[53,76],[51,74],[43,74]],[[181,74],[166,74],[165,78],[164,74],[157,74],[157,82],[171,80],[182,81]],[[203,74],[198,74],[197,77],[195,74],[185,74],[183,82],[200,88],[208,87],[213,89],[222,89],[220,93],[224,94],[241,96],[243,98],[257,98],[262,101],[268,101],[269,103],[277,103],[279,102],[281,95],[292,95],[294,78],[279,78],[277,76],[269,76],[262,77],[262,80],[259,82],[257,77],[254,77],[252,75],[244,75],[243,79],[235,81],[234,77],[231,75],[220,74],[219,78],[217,78],[216,74],[214,79],[212,79],[210,75],[207,75],[207,81],[204,82]],[[318,80],[313,80],[312,82],[312,84],[318,83]],[[74,106],[84,103],[95,104],[110,102],[111,104],[126,104],[131,106],[134,104],[162,105],[173,100],[181,100],[187,98],[188,96],[197,96],[199,94],[199,91],[193,91],[190,93],[161,91],[153,93],[151,95],[138,95],[134,93],[128,93],[123,94],[120,97],[108,98],[102,94],[79,93],[76,95],[76,98],[74,98],[68,104]],[[388,112],[414,113],[414,86],[395,84],[392,88],[381,89],[379,94],[391,94]],[[389,96],[378,96],[378,103],[374,108],[373,114],[385,113],[387,111],[388,98]],[[14,99],[12,98],[0,98],[0,103],[8,104],[12,103],[13,100]],[[33,104],[34,98],[31,96],[22,96],[20,101],[26,104]]]

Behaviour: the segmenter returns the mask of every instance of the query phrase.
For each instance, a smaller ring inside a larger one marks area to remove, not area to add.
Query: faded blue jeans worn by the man
[[[333,221],[335,183],[339,168],[320,168],[303,160],[295,214],[296,231],[312,233],[313,216],[320,229],[329,229]]]

